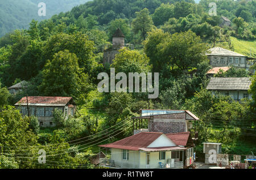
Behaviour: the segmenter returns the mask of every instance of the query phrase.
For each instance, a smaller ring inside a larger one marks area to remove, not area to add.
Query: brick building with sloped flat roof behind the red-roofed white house
[[[164,134],[188,132],[192,122],[199,118],[189,110],[142,109],[141,116],[133,117],[133,132],[163,132]],[[147,123],[145,122],[147,121]],[[145,124],[147,128],[144,128]]]

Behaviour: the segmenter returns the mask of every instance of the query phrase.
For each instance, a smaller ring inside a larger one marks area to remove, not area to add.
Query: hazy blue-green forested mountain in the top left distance
[[[32,19],[43,20],[89,0],[0,0],[0,37],[14,29],[28,28]],[[38,4],[46,3],[46,16],[38,16]]]

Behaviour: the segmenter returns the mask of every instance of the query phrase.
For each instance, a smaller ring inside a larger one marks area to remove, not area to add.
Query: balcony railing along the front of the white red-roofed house
[[[109,158],[100,158],[100,166],[106,168],[121,168],[121,169],[182,169],[183,162],[177,161],[174,163],[158,163],[158,164],[138,164],[126,161],[114,161]]]

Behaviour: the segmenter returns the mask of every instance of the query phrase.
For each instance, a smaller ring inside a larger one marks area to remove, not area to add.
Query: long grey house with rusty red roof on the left
[[[15,106],[23,115],[37,117],[42,127],[55,126],[52,120],[55,109],[59,109],[65,118],[73,116],[76,112],[76,104],[72,97],[28,96],[16,102]]]

